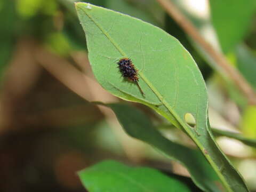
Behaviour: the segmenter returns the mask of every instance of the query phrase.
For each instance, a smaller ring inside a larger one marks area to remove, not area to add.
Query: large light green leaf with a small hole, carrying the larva
[[[102,7],[77,3],[89,60],[98,82],[119,98],[140,102],[183,129],[208,159],[228,191],[247,191],[239,173],[215,143],[209,129],[203,77],[191,55],[162,29]],[[139,86],[126,81],[116,62],[132,59]],[[185,115],[196,119],[190,127]]]

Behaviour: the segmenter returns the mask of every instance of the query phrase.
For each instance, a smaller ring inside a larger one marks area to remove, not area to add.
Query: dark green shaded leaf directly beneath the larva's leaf
[[[203,154],[178,143],[172,142],[155,129],[150,119],[135,107],[111,103],[119,123],[131,137],[147,142],[165,156],[183,164],[196,185],[204,191],[219,191],[218,176]],[[188,158],[189,157],[189,158]]]

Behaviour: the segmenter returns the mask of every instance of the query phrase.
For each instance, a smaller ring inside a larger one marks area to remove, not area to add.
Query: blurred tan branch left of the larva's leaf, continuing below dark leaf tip
[[[38,45],[35,52],[36,61],[50,74],[57,78],[61,83],[66,85],[70,90],[74,91],[80,97],[89,101],[116,102],[118,99],[103,90],[103,88],[94,79],[88,77],[89,68],[86,63],[79,63],[79,66],[86,70],[82,73],[65,58],[59,57]],[[87,59],[85,59],[86,61]],[[88,60],[87,60],[88,61]],[[89,64],[89,63],[87,63]],[[141,142],[129,137],[119,124],[114,112],[108,107],[98,106],[100,111],[105,115],[106,121],[111,126],[119,142],[121,142],[126,155],[134,162],[140,162],[145,151]]]

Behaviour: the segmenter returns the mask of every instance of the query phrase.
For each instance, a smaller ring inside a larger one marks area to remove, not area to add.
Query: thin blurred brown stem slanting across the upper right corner
[[[157,0],[159,4],[166,10],[167,13],[180,25],[186,33],[194,39],[203,49],[210,55],[210,57],[221,67],[230,79],[236,84],[241,92],[247,98],[249,104],[256,105],[256,94],[246,79],[234,68],[225,55],[216,51],[213,46],[206,42],[205,39],[198,32],[196,27],[179,11],[179,9],[172,3],[171,0]]]

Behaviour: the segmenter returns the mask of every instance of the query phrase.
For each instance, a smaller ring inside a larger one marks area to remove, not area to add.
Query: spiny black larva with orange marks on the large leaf
[[[132,60],[129,58],[123,58],[117,62],[117,65],[120,72],[122,73],[122,76],[129,79],[129,81],[136,83],[140,89],[140,92],[142,93],[142,95],[144,95],[143,91],[140,88],[140,85],[138,84],[138,69],[134,67]]]

